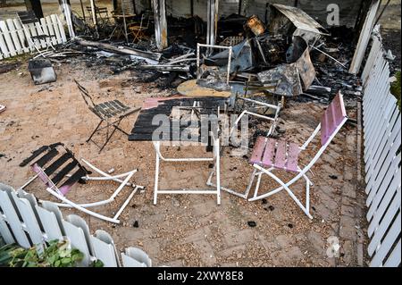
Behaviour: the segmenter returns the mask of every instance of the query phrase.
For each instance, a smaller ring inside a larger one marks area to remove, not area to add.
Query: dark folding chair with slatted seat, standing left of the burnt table
[[[129,136],[129,133],[127,133],[125,130],[122,130],[119,127],[119,124],[121,123],[122,119],[129,116],[131,113],[138,112],[141,108],[130,108],[127,105],[122,104],[119,100],[112,100],[100,104],[95,104],[94,100],[89,95],[88,90],[83,86],[81,86],[77,80],[74,81],[77,84],[77,87],[80,89],[80,94],[84,98],[85,103],[88,105],[88,109],[92,113],[95,113],[96,116],[100,119],[100,122],[97,124],[96,129],[91,133],[91,135],[87,139],[87,142],[92,141],[96,145],[96,147],[100,148],[99,153],[101,153],[106,144],[113,137],[113,134],[116,130],[119,130],[121,131],[121,133],[125,134],[126,136]],[[105,122],[106,125],[105,127],[101,128],[103,122]],[[110,128],[112,128],[113,130],[112,132],[109,133]],[[96,144],[94,140],[92,140],[92,137],[95,135],[96,132],[105,129],[106,129],[105,143],[102,146],[99,146]]]

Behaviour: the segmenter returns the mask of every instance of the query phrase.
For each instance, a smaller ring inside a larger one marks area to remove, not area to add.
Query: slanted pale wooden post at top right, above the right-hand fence
[[[349,73],[356,74],[360,70],[365,50],[372,36],[375,15],[377,14],[378,9],[380,8],[380,4],[381,4],[380,0],[373,0],[370,5],[370,8],[364,20],[363,28],[360,31],[360,37],[357,42],[355,54],[353,55],[352,63],[350,64]]]

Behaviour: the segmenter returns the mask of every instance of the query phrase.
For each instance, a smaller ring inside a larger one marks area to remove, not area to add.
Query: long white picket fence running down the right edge
[[[389,63],[381,38],[364,66],[364,163],[370,266],[401,264],[401,117],[389,92]]]

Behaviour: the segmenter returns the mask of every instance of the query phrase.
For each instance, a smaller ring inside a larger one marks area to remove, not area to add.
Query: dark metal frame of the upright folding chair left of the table
[[[86,88],[84,88],[83,86],[80,85],[80,83],[77,80],[74,80],[75,83],[77,84],[77,87],[80,89],[80,94],[83,97],[85,104],[88,105],[88,109],[92,112],[95,113],[96,116],[100,119],[100,122],[97,124],[95,130],[92,131],[91,135],[89,136],[89,138],[86,140],[86,142],[88,143],[89,141],[92,141],[96,147],[99,147],[99,153],[102,152],[102,150],[105,148],[105,146],[107,145],[107,143],[110,141],[110,139],[113,137],[113,134],[116,130],[121,131],[121,133],[123,133],[126,136],[130,136],[130,134],[125,131],[122,130],[119,125],[121,123],[121,120],[124,119],[125,117],[129,116],[132,113],[136,113],[138,112],[141,108],[130,108],[126,105],[123,105],[125,107],[125,111],[124,109],[121,109],[120,113],[115,113],[110,117],[107,117],[105,115],[103,115],[102,113],[97,111],[97,106],[92,99],[92,97],[89,95],[88,90]],[[105,102],[108,103],[108,102]],[[110,121],[110,119],[116,118],[116,116],[118,115],[116,120],[112,120]],[[106,125],[104,127],[101,127],[102,123],[105,122]],[[113,128],[113,131],[109,134],[109,129]],[[105,143],[102,146],[99,146],[96,141],[94,141],[92,139],[92,137],[96,134],[96,132],[100,131],[100,130],[105,130],[106,129],[106,136],[105,136]]]

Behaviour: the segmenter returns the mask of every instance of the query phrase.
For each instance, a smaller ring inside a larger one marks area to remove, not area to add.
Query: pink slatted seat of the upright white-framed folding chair
[[[300,149],[297,144],[273,138],[258,137],[251,154],[250,163],[289,172],[299,172],[297,165],[299,152]]]

